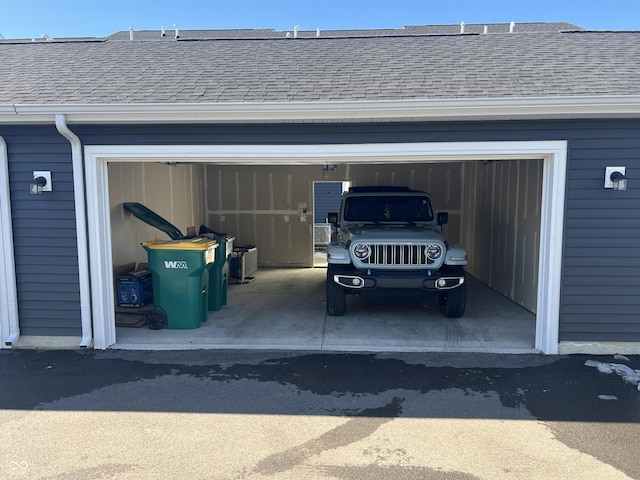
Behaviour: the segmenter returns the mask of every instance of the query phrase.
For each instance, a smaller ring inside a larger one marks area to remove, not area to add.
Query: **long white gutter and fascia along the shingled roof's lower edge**
[[[640,117],[640,95],[353,102],[0,105],[0,123],[280,123]]]

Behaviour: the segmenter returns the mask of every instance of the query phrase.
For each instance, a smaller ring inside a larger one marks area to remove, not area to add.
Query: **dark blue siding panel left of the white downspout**
[[[9,156],[20,330],[80,335],[80,293],[71,148],[54,127],[0,128]],[[29,195],[34,170],[53,191]]]

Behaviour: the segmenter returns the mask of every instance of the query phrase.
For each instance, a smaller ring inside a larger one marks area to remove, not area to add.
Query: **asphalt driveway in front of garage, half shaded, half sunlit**
[[[0,477],[640,478],[640,357],[0,351]]]

